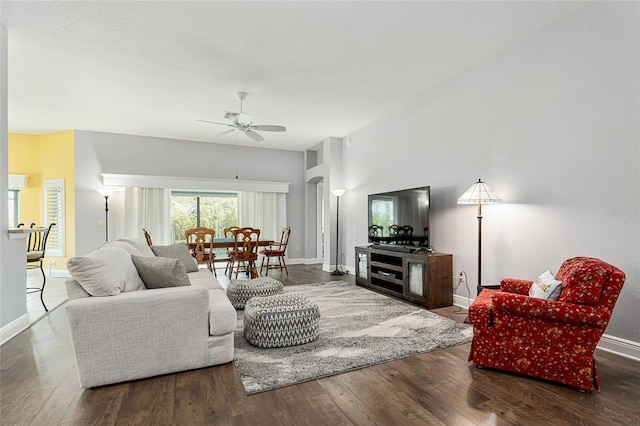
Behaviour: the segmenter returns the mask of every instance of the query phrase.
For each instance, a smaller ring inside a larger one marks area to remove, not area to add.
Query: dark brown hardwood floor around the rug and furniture
[[[292,265],[286,285],[349,280]],[[435,312],[457,321],[455,307]],[[0,348],[2,425],[640,425],[640,362],[596,354],[601,391],[475,368],[469,344],[247,396],[233,363],[83,390],[64,306]],[[122,354],[126,362],[127,354]]]

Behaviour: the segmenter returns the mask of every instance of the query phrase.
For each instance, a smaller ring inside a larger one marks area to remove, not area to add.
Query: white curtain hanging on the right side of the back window
[[[280,241],[287,226],[287,194],[238,192],[238,226],[260,229],[260,240]]]

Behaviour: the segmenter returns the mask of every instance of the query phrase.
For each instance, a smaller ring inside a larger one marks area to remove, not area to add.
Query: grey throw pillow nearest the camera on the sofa
[[[131,255],[145,287],[166,288],[191,285],[184,265],[178,259]]]

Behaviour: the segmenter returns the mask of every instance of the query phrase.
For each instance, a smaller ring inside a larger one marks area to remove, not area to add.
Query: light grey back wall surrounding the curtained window
[[[105,240],[104,227],[97,225],[105,217],[104,198],[96,192],[102,173],[234,179],[237,168],[242,180],[290,183],[287,254],[291,259],[307,257],[303,152],[76,131],[75,155],[76,254],[95,250]],[[109,198],[110,239],[120,237],[116,231],[122,228],[123,202],[122,192]],[[137,237],[142,238],[142,230]]]

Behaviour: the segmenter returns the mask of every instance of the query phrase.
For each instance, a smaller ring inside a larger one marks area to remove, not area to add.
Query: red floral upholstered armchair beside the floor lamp
[[[469,361],[564,383],[600,389],[593,352],[604,333],[625,274],[599,259],[574,257],[556,274],[557,301],[529,297],[532,281],[505,278],[469,307]]]

